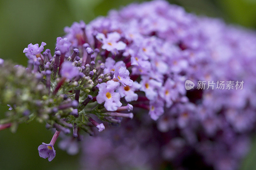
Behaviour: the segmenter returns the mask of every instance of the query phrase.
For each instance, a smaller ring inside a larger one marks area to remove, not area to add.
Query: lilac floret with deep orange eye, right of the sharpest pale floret
[[[117,89],[117,92],[119,92],[120,94],[120,97],[124,97],[124,99],[127,101],[127,102],[130,102],[130,101],[136,101],[138,100],[138,94],[135,93],[134,91],[136,90],[139,90],[141,87],[141,85],[134,81],[132,86],[120,86],[118,89]]]

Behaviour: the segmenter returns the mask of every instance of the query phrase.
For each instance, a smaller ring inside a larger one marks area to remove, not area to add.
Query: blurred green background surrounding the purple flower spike
[[[223,18],[226,22],[255,29],[256,0],[169,0],[198,15]],[[110,9],[133,0],[0,0],[0,58],[26,65],[22,53],[29,43],[46,42],[53,50],[56,37],[64,35],[63,28],[74,21],[85,23]],[[140,0],[135,2],[141,2]],[[255,49],[256,50],[256,49]],[[0,80],[1,81],[1,80]],[[0,106],[0,118],[8,109]],[[0,131],[0,169],[79,169],[79,155],[69,156],[56,148],[52,162],[38,155],[37,147],[49,143],[52,133],[44,124],[21,124],[17,133]],[[242,169],[256,169],[256,144],[244,160]],[[86,159],[86,158],[84,158]]]

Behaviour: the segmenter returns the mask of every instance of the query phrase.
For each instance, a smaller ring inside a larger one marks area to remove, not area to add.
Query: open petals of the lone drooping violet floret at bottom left
[[[49,161],[52,161],[52,159],[56,155],[56,151],[54,150],[54,147],[52,144],[42,143],[40,146],[38,146],[38,152],[41,158],[44,158],[44,159],[48,158]]]

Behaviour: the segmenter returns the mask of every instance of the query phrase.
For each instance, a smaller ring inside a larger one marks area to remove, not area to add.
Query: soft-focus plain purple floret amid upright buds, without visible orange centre
[[[60,75],[62,77],[72,79],[79,75],[79,70],[77,67],[74,67],[71,62],[64,62],[61,65]]]

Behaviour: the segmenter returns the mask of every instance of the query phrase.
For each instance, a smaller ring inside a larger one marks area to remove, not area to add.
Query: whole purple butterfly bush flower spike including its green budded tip
[[[55,133],[39,156],[52,161],[60,135],[87,169],[239,168],[255,131],[256,33],[162,0],[64,31],[54,52],[29,44],[27,68],[0,60],[0,130],[46,122]],[[186,80],[245,84],[187,91]]]

